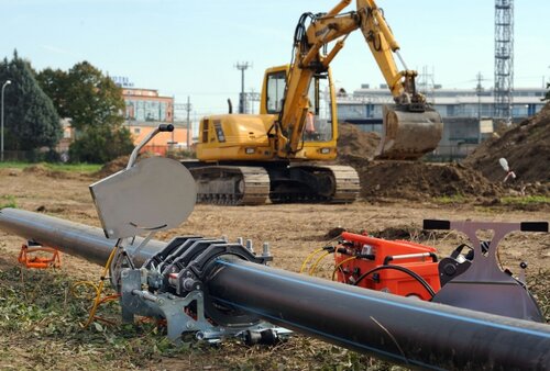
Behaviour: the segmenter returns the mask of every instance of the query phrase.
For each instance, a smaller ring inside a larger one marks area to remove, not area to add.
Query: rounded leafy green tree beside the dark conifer
[[[37,79],[57,112],[72,119],[77,134],[72,161],[106,162],[132,150],[131,134],[122,126],[122,89],[101,70],[81,61],[67,72],[46,68]]]

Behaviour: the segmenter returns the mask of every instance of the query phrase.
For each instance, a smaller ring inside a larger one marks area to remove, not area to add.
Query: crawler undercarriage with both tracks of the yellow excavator
[[[190,167],[197,202],[220,205],[273,203],[350,203],[360,191],[359,176],[349,166],[263,164]]]

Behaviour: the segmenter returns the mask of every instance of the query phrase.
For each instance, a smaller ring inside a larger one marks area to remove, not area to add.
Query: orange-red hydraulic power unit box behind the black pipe
[[[348,232],[342,239],[334,254],[338,281],[427,301],[441,289],[433,247]]]

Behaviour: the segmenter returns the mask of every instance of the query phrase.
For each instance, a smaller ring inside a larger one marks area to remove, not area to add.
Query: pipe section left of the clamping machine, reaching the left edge
[[[106,238],[103,231],[97,227],[9,207],[0,210],[0,229],[43,246],[55,247],[63,252],[79,256],[97,265],[105,265],[117,243],[116,239]],[[131,245],[127,246],[127,250],[132,254],[132,250],[142,241],[143,238],[135,238]],[[165,246],[166,243],[150,240],[138,256],[133,257],[134,263],[141,266]]]

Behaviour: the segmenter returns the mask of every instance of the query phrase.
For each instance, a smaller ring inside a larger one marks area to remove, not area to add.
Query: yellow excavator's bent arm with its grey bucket
[[[305,13],[298,22],[294,37],[294,60],[283,109],[275,124],[277,154],[288,158],[299,150],[309,106],[309,85],[314,76],[327,71],[343,48],[345,38],[361,30],[396,103],[385,109],[383,135],[376,157],[419,158],[438,145],[442,133],[441,117],[426,105],[425,97],[416,91],[417,72],[398,70],[394,54],[399,56],[399,45],[382,10],[373,0],[356,0],[356,11],[342,13],[350,3],[351,0],[341,0],[328,13]],[[308,20],[310,23],[306,26]],[[336,43],[327,50],[331,42]]]

